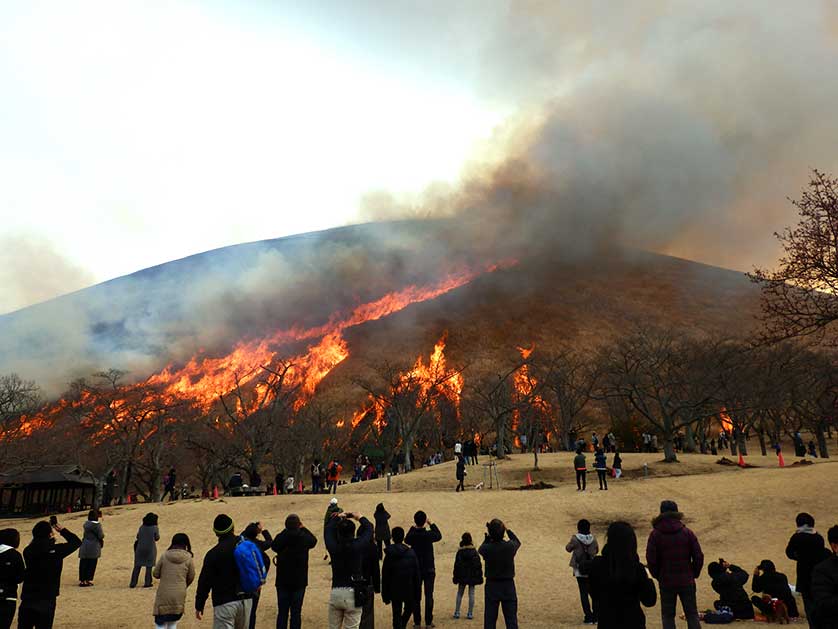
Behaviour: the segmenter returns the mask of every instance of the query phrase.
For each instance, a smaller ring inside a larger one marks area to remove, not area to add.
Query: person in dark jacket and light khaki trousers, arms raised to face
[[[359,523],[357,537],[352,520]],[[340,513],[326,524],[324,537],[332,560],[329,629],[358,629],[361,624],[366,590],[360,586],[360,571],[372,543],[372,531],[370,521],[357,513]]]

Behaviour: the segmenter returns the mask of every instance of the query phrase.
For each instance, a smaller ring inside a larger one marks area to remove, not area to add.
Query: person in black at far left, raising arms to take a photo
[[[55,599],[61,589],[61,570],[64,558],[81,546],[81,540],[67,529],[46,521],[32,529],[32,541],[23,550],[26,570],[18,612],[19,629],[51,629],[55,618]],[[55,534],[64,543],[55,543]]]

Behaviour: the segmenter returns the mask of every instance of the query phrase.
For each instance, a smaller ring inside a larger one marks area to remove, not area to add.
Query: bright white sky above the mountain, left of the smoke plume
[[[510,109],[428,47],[465,16],[305,4],[0,3],[0,313],[456,182]]]

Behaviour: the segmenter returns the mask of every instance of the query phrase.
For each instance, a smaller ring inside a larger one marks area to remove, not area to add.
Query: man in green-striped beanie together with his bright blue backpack
[[[254,581],[258,584],[261,576],[261,552],[251,542],[240,542],[232,518],[224,513],[216,516],[212,530],[218,543],[204,555],[195,592],[195,618],[203,619],[211,593],[213,629],[245,629],[250,622],[251,596],[258,589]],[[237,553],[239,545],[243,549]]]

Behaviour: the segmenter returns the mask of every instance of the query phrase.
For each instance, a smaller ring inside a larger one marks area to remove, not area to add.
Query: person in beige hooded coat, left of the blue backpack
[[[172,544],[155,564],[152,575],[160,579],[154,595],[154,626],[177,629],[186,611],[186,588],[195,580],[192,544],[186,533],[172,537]]]

